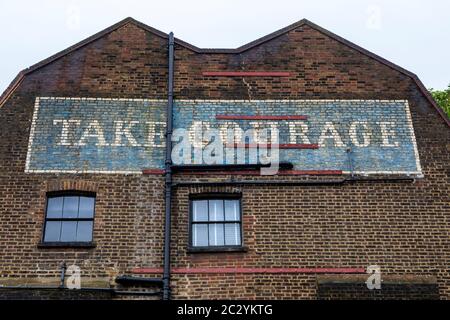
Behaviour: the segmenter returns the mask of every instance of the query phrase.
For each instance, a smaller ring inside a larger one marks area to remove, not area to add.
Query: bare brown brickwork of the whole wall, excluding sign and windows
[[[424,178],[414,183],[340,186],[177,188],[173,266],[364,268],[378,264],[386,274],[436,276],[440,298],[450,298],[450,130],[410,77],[307,25],[241,54],[196,53],[177,44],[175,65],[177,99],[408,100]],[[218,70],[289,71],[293,76],[201,74]],[[79,265],[82,275],[89,277],[113,278],[135,267],[162,266],[161,176],[24,170],[36,97],[165,99],[166,91],[167,39],[133,23],[25,76],[0,109],[2,278],[57,278],[62,260]],[[45,194],[59,188],[97,193],[95,248],[38,247]],[[247,252],[187,252],[188,196],[211,191],[242,192]],[[189,274],[174,275],[173,280],[175,298],[313,299],[318,294],[312,274]]]

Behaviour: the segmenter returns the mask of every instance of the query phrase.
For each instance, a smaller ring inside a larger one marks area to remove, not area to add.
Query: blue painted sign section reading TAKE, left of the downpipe
[[[164,101],[38,98],[28,172],[139,173],[162,168]]]

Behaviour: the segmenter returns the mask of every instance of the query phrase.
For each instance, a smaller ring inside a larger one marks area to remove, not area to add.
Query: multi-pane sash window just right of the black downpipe
[[[242,246],[241,201],[236,196],[191,199],[192,248]]]

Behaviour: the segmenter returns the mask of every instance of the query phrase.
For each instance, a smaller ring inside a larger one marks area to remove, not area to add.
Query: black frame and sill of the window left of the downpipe
[[[48,201],[52,198],[58,197],[89,197],[94,198],[94,210],[92,214],[92,218],[48,218]],[[95,222],[95,213],[96,213],[96,204],[97,204],[97,194],[95,192],[89,191],[79,191],[79,190],[65,190],[65,191],[52,191],[46,193],[45,199],[45,212],[44,212],[44,226],[42,228],[41,242],[39,243],[39,247],[86,247],[92,248],[95,247],[94,242],[94,222]],[[48,221],[92,221],[92,234],[91,241],[45,241],[45,232],[47,228]]]

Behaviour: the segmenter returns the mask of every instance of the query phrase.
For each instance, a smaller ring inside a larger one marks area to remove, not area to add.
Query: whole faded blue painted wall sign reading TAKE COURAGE
[[[38,98],[27,172],[140,173],[164,167],[163,100]],[[280,161],[295,170],[421,175],[407,101],[179,100],[174,127],[279,133]],[[176,142],[175,142],[176,144]],[[206,146],[208,141],[203,141]],[[348,149],[351,150],[351,163]],[[248,159],[246,161],[249,161]]]

